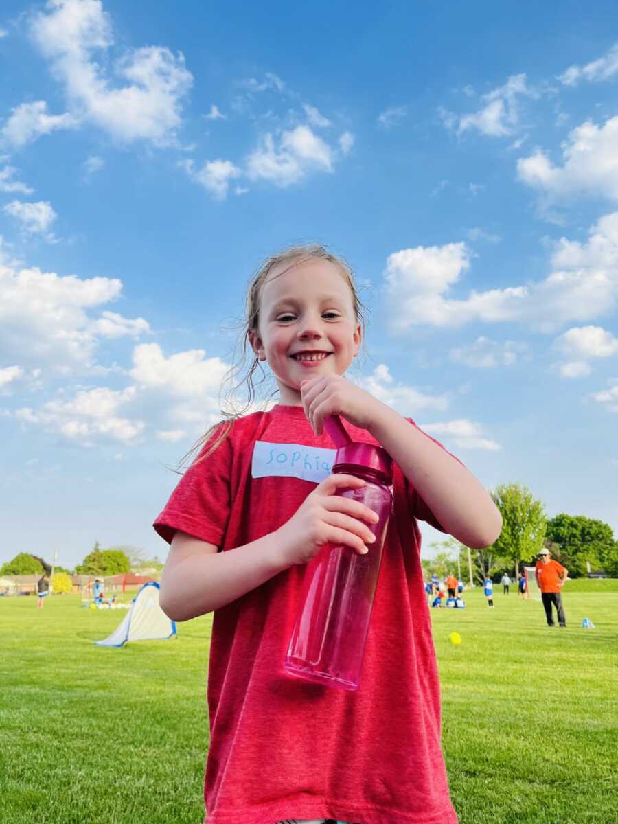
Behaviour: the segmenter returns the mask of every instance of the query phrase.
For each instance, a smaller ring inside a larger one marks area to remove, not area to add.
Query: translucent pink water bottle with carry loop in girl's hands
[[[358,690],[392,509],[392,461],[382,447],[350,441],[338,416],[326,420],[325,429],[339,447],[333,473],[356,475],[365,481],[361,489],[339,494],[361,501],[380,520],[368,524],[376,541],[368,544],[366,555],[358,555],[350,546],[325,544],[307,564],[302,606],[283,668],[288,675],[306,681]]]

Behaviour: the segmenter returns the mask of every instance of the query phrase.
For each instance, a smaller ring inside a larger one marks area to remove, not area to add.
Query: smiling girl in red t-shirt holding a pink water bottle
[[[344,261],[319,246],[267,260],[248,295],[246,380],[252,400],[255,370],[268,363],[279,402],[207,433],[155,522],[171,542],[163,610],[172,620],[214,611],[208,824],[456,822],[416,519],[471,547],[493,543],[501,521],[456,458],[344,377],[362,338]],[[338,495],[363,480],[330,474],[331,414],[396,463],[356,692],[283,671],[307,562],[325,543],[371,552],[377,516]]]

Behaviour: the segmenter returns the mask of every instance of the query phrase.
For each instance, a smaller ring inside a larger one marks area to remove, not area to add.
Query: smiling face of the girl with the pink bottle
[[[300,405],[302,381],[343,375],[358,353],[352,293],[329,260],[288,261],[274,269],[261,290],[259,317],[250,343],[273,370],[282,404]]]

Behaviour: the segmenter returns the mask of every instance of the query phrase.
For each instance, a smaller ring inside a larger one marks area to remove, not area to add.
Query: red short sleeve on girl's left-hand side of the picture
[[[171,543],[176,531],[221,546],[231,509],[232,436],[227,435],[208,457],[204,453],[220,429],[182,476],[153,527]]]

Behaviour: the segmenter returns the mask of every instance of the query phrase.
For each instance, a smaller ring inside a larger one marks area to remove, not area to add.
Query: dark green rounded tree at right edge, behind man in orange
[[[602,568],[613,574],[618,553],[609,524],[584,515],[559,513],[547,522],[547,538],[555,547],[550,547],[552,554],[569,570],[569,578],[586,575],[588,564],[591,569]]]

